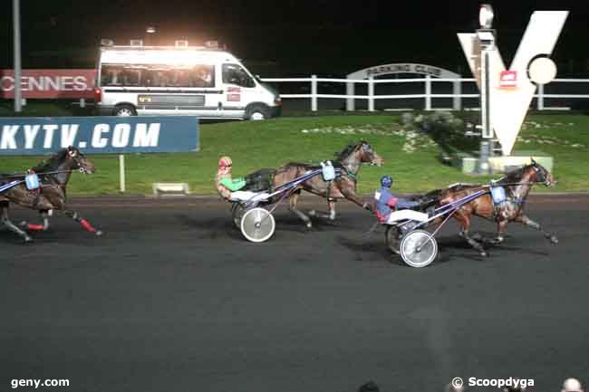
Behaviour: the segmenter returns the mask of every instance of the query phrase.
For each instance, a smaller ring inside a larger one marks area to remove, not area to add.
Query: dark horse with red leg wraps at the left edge
[[[27,222],[21,223],[21,227],[29,231],[45,231],[49,228],[49,211],[58,210],[64,215],[71,217],[87,231],[101,235],[87,220],[83,219],[76,211],[68,208],[66,187],[73,170],[80,170],[84,174],[92,174],[95,167],[77,148],[62,148],[51,158],[29,170],[29,173],[37,173],[42,179],[38,189],[29,190],[24,184],[14,186],[0,195],[0,223],[8,230],[20,235],[24,242],[31,242],[33,239],[23,229],[14,225],[8,217],[10,203],[18,206],[38,210],[43,225],[34,225]],[[4,175],[1,178],[14,178]],[[24,177],[24,176],[22,176]]]

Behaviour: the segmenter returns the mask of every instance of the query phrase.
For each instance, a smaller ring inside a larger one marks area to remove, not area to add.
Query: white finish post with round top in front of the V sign
[[[478,174],[488,174],[491,167],[488,158],[493,156],[494,130],[491,124],[491,89],[490,89],[490,53],[497,51],[495,45],[495,30],[491,29],[493,24],[493,7],[491,5],[480,5],[478,22],[480,28],[477,30],[478,42],[480,43],[480,113],[481,113],[481,136],[480,151],[478,156]]]

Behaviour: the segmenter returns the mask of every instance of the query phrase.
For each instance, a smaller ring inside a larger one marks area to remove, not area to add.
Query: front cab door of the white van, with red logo
[[[223,112],[226,118],[243,119],[246,106],[257,98],[257,85],[244,67],[226,62],[221,70],[223,81]]]

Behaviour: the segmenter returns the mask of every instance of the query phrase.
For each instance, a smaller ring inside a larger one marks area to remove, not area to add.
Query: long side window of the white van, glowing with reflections
[[[157,64],[103,64],[101,86],[215,87],[215,67],[208,64],[187,67]]]

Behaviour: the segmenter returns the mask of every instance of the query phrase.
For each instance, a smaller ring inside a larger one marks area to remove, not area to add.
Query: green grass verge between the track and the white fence
[[[30,114],[31,115],[31,114]],[[260,167],[279,167],[288,161],[319,162],[333,158],[349,142],[369,141],[385,159],[383,167],[362,167],[359,192],[370,193],[379,178],[389,174],[399,192],[423,192],[450,183],[486,182],[490,177],[470,177],[442,164],[439,147],[427,136],[415,135],[398,115],[345,115],[291,117],[266,121],[230,121],[201,124],[198,153],[132,154],[126,156],[128,193],[149,194],[154,182],[188,182],[193,193],[213,195],[217,159],[229,155],[234,176]],[[589,117],[584,115],[528,116],[517,150],[540,150],[555,158],[559,184],[536,191],[586,191],[589,189]],[[24,172],[41,158],[2,158],[0,171]],[[74,174],[72,194],[116,194],[119,188],[118,158],[92,156],[97,173]]]

